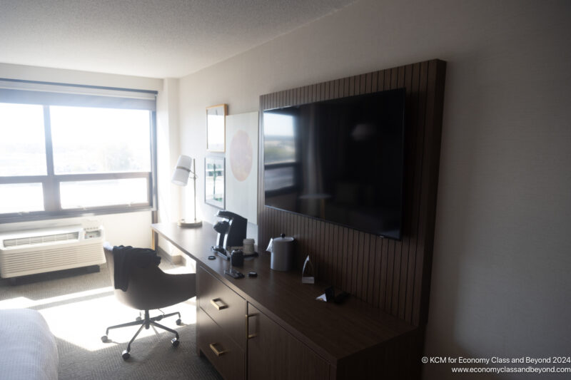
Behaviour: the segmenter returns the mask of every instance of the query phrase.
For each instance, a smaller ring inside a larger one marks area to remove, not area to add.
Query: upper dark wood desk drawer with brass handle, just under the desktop
[[[246,349],[246,300],[198,267],[198,306],[220,326],[234,342]]]

